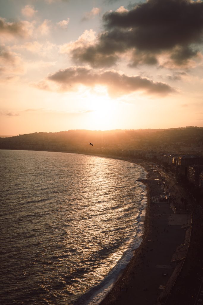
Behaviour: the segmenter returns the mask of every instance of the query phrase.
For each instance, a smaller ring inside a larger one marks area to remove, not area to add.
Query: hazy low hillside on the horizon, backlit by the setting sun
[[[0,138],[0,149],[50,151],[92,151],[98,149],[138,149],[164,152],[202,151],[203,127],[139,130],[69,130],[36,132]]]

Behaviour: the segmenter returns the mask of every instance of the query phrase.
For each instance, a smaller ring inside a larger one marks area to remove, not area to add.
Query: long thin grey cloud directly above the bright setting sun
[[[135,91],[142,91],[149,95],[167,95],[175,90],[163,82],[154,82],[146,77],[128,76],[110,71],[94,72],[86,67],[70,67],[65,70],[51,74],[47,80],[38,84],[38,88],[51,90],[53,86],[49,82],[58,86],[60,91],[71,91],[74,87],[84,85],[94,87],[103,85],[107,87],[108,93],[117,97],[130,94]],[[56,87],[55,87],[56,88]]]

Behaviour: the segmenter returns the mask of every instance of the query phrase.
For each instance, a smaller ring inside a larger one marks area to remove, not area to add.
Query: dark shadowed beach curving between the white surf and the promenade
[[[149,163],[133,162],[148,171],[147,179],[143,181],[147,185],[148,196],[143,241],[100,305],[162,303],[175,282],[187,252],[187,245],[184,249],[180,245],[187,243],[189,215],[174,214],[167,202],[153,203],[152,197],[166,195],[163,179],[158,171],[150,170],[152,165]]]

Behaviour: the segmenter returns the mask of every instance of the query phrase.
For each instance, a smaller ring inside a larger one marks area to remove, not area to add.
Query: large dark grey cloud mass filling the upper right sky
[[[176,66],[187,66],[202,43],[203,2],[148,0],[129,11],[103,15],[105,31],[91,46],[72,50],[76,62],[112,66],[131,51],[130,65],[154,65],[167,54]]]

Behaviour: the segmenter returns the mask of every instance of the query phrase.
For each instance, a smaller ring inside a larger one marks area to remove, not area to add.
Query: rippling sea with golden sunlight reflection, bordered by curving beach
[[[96,305],[142,241],[139,165],[0,150],[0,303]]]

